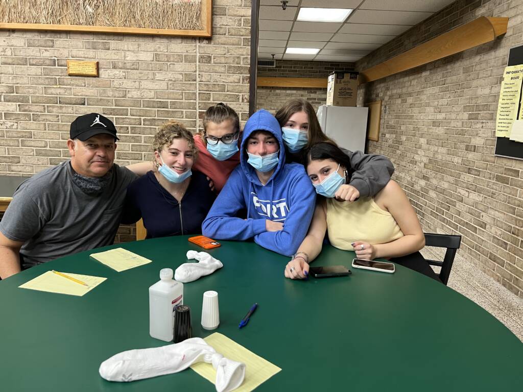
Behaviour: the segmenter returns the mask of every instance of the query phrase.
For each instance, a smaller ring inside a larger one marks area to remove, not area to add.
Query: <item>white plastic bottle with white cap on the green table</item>
[[[174,308],[184,303],[184,285],[173,279],[173,270],[160,270],[160,282],[149,287],[149,334],[173,340]]]

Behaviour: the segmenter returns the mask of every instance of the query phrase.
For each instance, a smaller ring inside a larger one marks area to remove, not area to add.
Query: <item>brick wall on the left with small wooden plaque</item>
[[[84,113],[115,122],[120,165],[150,159],[167,120],[201,130],[213,103],[246,121],[251,2],[214,0],[212,13],[212,39],[0,30],[0,175],[69,158],[70,123]],[[100,77],[67,76],[67,59],[99,61]],[[133,238],[131,228],[121,234]]]

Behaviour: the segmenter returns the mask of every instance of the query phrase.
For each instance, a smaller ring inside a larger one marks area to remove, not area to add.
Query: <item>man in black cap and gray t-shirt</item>
[[[71,124],[71,160],[22,182],[0,222],[0,277],[113,243],[127,186],[137,178],[113,164],[116,128],[98,113]]]

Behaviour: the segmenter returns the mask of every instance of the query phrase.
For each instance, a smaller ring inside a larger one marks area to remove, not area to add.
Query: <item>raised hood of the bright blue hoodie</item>
[[[281,167],[283,166],[283,164],[285,164],[285,144],[283,144],[281,127],[278,120],[276,120],[276,118],[272,116],[272,114],[270,114],[267,110],[260,109],[251,117],[249,117],[249,119],[245,123],[245,128],[243,129],[242,143],[240,145],[240,164],[242,165],[242,169],[245,173],[245,176],[247,176],[249,181],[256,185],[261,185],[261,182],[258,179],[258,176],[256,175],[256,169],[247,162],[249,156],[247,155],[247,151],[245,148],[247,140],[256,131],[270,132],[274,137],[276,137],[276,140],[280,145],[278,165],[276,165],[274,173],[272,173],[272,176],[270,176],[269,181],[267,181],[268,184],[278,175],[278,172],[281,170]]]

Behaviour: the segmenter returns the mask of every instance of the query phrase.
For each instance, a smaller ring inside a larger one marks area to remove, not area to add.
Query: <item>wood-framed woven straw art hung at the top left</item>
[[[0,0],[0,29],[212,37],[212,0]]]

